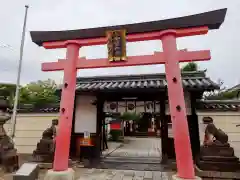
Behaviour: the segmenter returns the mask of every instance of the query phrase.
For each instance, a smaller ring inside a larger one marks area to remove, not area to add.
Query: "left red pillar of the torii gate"
[[[68,44],[66,62],[64,67],[64,86],[60,103],[60,121],[56,137],[56,149],[53,163],[54,171],[65,171],[68,169],[68,158],[70,149],[70,138],[72,129],[74,99],[76,90],[76,63],[79,54],[77,44]]]

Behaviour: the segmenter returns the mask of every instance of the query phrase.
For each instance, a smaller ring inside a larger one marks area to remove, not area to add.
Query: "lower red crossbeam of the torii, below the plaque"
[[[205,61],[210,60],[210,51],[178,51],[179,62],[190,61]],[[59,71],[65,67],[64,60],[58,62],[42,63],[42,71]],[[156,52],[154,55],[145,56],[130,56],[127,61],[109,62],[107,58],[103,59],[85,59],[79,58],[77,61],[77,69],[93,69],[93,68],[106,68],[106,67],[123,67],[123,66],[139,66],[139,65],[152,65],[164,64],[164,53]]]

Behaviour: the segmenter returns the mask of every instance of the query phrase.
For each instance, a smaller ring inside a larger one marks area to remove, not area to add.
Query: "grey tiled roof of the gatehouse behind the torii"
[[[182,73],[185,89],[214,90],[219,86],[205,72]],[[164,89],[167,87],[165,74],[81,77],[77,81],[77,91],[107,91],[116,89]]]

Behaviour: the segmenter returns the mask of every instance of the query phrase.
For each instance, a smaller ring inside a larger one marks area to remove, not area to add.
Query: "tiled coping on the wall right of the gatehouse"
[[[202,111],[240,111],[240,101],[205,100],[197,103],[197,109]]]

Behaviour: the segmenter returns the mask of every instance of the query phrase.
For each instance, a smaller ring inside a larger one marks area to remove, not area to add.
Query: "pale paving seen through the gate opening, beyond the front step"
[[[127,143],[113,151],[110,156],[118,157],[161,157],[160,138],[125,137]]]

